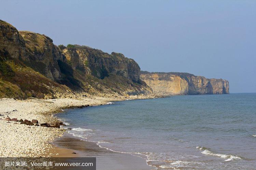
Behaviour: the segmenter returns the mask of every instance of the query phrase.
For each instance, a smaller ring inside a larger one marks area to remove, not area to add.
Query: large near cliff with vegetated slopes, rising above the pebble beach
[[[120,53],[55,46],[45,35],[0,20],[0,98],[152,94],[140,67]]]

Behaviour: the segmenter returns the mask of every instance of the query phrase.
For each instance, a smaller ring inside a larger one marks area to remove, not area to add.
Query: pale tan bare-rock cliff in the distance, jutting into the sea
[[[141,71],[140,78],[161,96],[229,94],[229,83],[222,79],[207,79],[189,73]]]

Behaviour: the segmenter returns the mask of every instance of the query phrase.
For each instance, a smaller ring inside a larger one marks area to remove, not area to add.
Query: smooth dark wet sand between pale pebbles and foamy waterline
[[[56,139],[53,144],[57,147],[67,149],[62,150],[62,156],[69,156],[70,152],[76,152],[81,157],[96,157],[97,170],[149,170],[155,169],[146,164],[146,158],[141,155],[131,155],[128,153],[112,152],[100,148],[95,142],[83,141],[73,138],[68,134]],[[66,152],[66,153],[65,153]]]

